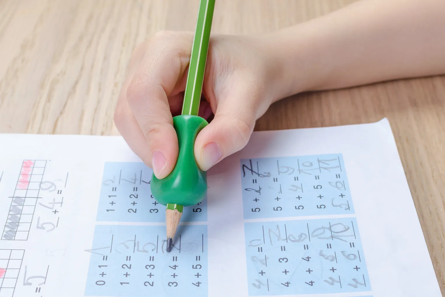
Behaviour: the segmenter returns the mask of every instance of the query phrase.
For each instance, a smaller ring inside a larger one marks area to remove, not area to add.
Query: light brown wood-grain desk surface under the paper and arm
[[[353,0],[218,1],[213,32],[262,33]],[[198,0],[0,2],[0,132],[117,135],[113,112],[134,47],[161,29],[194,30]],[[300,116],[295,116],[295,114]],[[445,77],[300,94],[256,130],[392,125],[445,292]]]

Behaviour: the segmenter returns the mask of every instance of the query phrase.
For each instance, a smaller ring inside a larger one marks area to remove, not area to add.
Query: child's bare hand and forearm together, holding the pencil
[[[160,32],[129,62],[114,121],[162,179],[173,170],[193,33]],[[196,138],[208,170],[248,142],[271,103],[303,91],[340,89],[445,73],[445,0],[361,0],[302,24],[256,36],[212,35]]]

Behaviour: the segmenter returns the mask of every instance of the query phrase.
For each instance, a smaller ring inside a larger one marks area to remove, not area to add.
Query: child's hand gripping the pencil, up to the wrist
[[[130,148],[162,179],[178,158],[172,114],[181,114],[192,33],[162,32],[138,46],[114,121]],[[242,149],[255,121],[279,99],[278,64],[266,37],[211,37],[199,115],[214,119],[196,138],[202,170]]]

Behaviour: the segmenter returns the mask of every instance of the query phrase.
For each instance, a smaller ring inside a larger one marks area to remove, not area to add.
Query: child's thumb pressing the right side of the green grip
[[[203,171],[246,146],[256,120],[253,106],[246,101],[232,98],[221,103],[214,119],[199,132],[194,154]]]

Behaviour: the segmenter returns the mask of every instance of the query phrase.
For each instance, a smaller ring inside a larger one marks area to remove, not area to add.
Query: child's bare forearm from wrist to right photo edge
[[[361,0],[280,30],[283,94],[445,73],[445,0]]]

